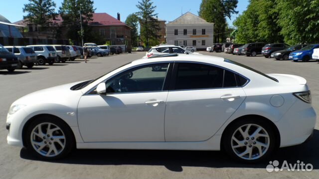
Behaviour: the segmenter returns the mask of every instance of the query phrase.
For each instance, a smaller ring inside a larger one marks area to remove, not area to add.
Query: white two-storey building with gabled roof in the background
[[[190,12],[166,24],[166,43],[205,50],[213,45],[214,23]]]

